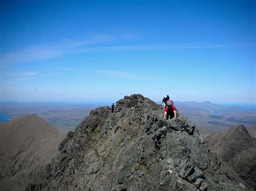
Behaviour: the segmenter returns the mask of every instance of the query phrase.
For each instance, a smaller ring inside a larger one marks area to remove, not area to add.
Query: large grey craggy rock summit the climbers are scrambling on
[[[175,103],[174,103],[175,104]],[[69,132],[44,178],[27,190],[237,190],[248,189],[180,115],[142,95],[100,107]],[[250,189],[250,188],[249,188]]]

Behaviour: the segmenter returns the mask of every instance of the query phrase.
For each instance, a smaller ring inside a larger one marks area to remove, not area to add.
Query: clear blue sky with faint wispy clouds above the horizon
[[[1,1],[0,100],[255,104],[255,1]]]

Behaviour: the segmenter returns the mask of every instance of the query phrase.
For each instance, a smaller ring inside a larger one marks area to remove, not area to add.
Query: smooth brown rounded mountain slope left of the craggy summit
[[[58,152],[65,134],[37,115],[0,124],[0,190],[24,190]]]

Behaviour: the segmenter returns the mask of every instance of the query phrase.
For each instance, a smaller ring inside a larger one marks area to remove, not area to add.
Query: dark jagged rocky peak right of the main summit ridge
[[[227,162],[248,185],[256,189],[256,139],[243,125],[233,126],[223,134],[208,136],[204,141],[217,157]]]

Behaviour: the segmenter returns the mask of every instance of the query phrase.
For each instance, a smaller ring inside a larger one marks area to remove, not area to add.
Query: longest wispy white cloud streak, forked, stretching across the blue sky
[[[213,44],[213,43],[194,43],[194,44],[151,44],[151,45],[120,45],[120,46],[99,46],[100,43],[113,42],[121,39],[132,38],[131,34],[123,36],[104,36],[99,35],[85,41],[61,40],[51,43],[43,43],[27,47],[15,53],[2,55],[2,63],[18,63],[41,61],[56,58],[64,54],[77,54],[89,52],[107,51],[152,51],[160,49],[205,49],[223,47],[255,47],[255,43],[249,44]],[[95,45],[94,47],[91,47]],[[96,46],[97,45],[97,46]],[[87,46],[87,47],[86,47]],[[88,47],[90,46],[90,47]]]

